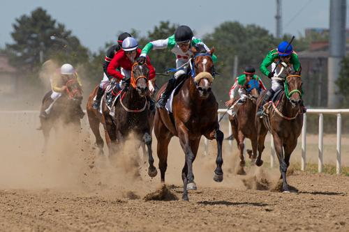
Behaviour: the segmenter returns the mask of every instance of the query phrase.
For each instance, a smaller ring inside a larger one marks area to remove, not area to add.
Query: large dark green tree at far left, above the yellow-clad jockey
[[[88,49],[43,8],[37,8],[31,15],[22,15],[15,21],[11,33],[14,43],[7,44],[6,49],[10,54],[10,63],[16,67],[34,71],[47,59],[73,65],[89,60]],[[52,40],[52,36],[58,39]]]

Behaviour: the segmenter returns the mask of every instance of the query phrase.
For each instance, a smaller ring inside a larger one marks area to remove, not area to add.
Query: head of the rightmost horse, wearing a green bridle
[[[303,101],[301,69],[297,72],[286,72],[284,85],[286,98],[291,102],[292,106],[301,105]]]

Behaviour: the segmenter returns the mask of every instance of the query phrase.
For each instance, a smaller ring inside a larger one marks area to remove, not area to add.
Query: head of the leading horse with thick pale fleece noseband
[[[212,54],[214,47],[209,52],[203,45],[195,45],[191,51],[194,54],[191,75],[194,79],[195,87],[201,98],[208,98],[211,93],[211,84],[214,80],[214,62]]]

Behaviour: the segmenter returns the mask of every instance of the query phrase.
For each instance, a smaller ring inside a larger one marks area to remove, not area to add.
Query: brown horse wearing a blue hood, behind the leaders
[[[248,98],[246,102],[235,110],[235,116],[229,115],[230,125],[232,126],[232,135],[237,141],[237,148],[239,149],[240,169],[237,174],[245,174],[245,160],[244,160],[244,139],[245,137],[251,140],[252,150],[247,150],[252,162],[255,162],[257,156],[257,129],[255,127],[255,107],[257,98],[260,95],[260,86],[258,80],[248,80]],[[238,99],[237,99],[238,100]],[[235,100],[235,102],[237,102]],[[235,105],[236,103],[234,103]],[[234,108],[234,107],[233,107]]]

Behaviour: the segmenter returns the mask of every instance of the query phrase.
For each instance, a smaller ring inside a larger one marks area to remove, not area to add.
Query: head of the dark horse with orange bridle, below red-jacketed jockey
[[[138,91],[140,97],[144,97],[149,92],[148,79],[149,68],[147,63],[142,65],[134,63],[131,71],[131,86]]]

